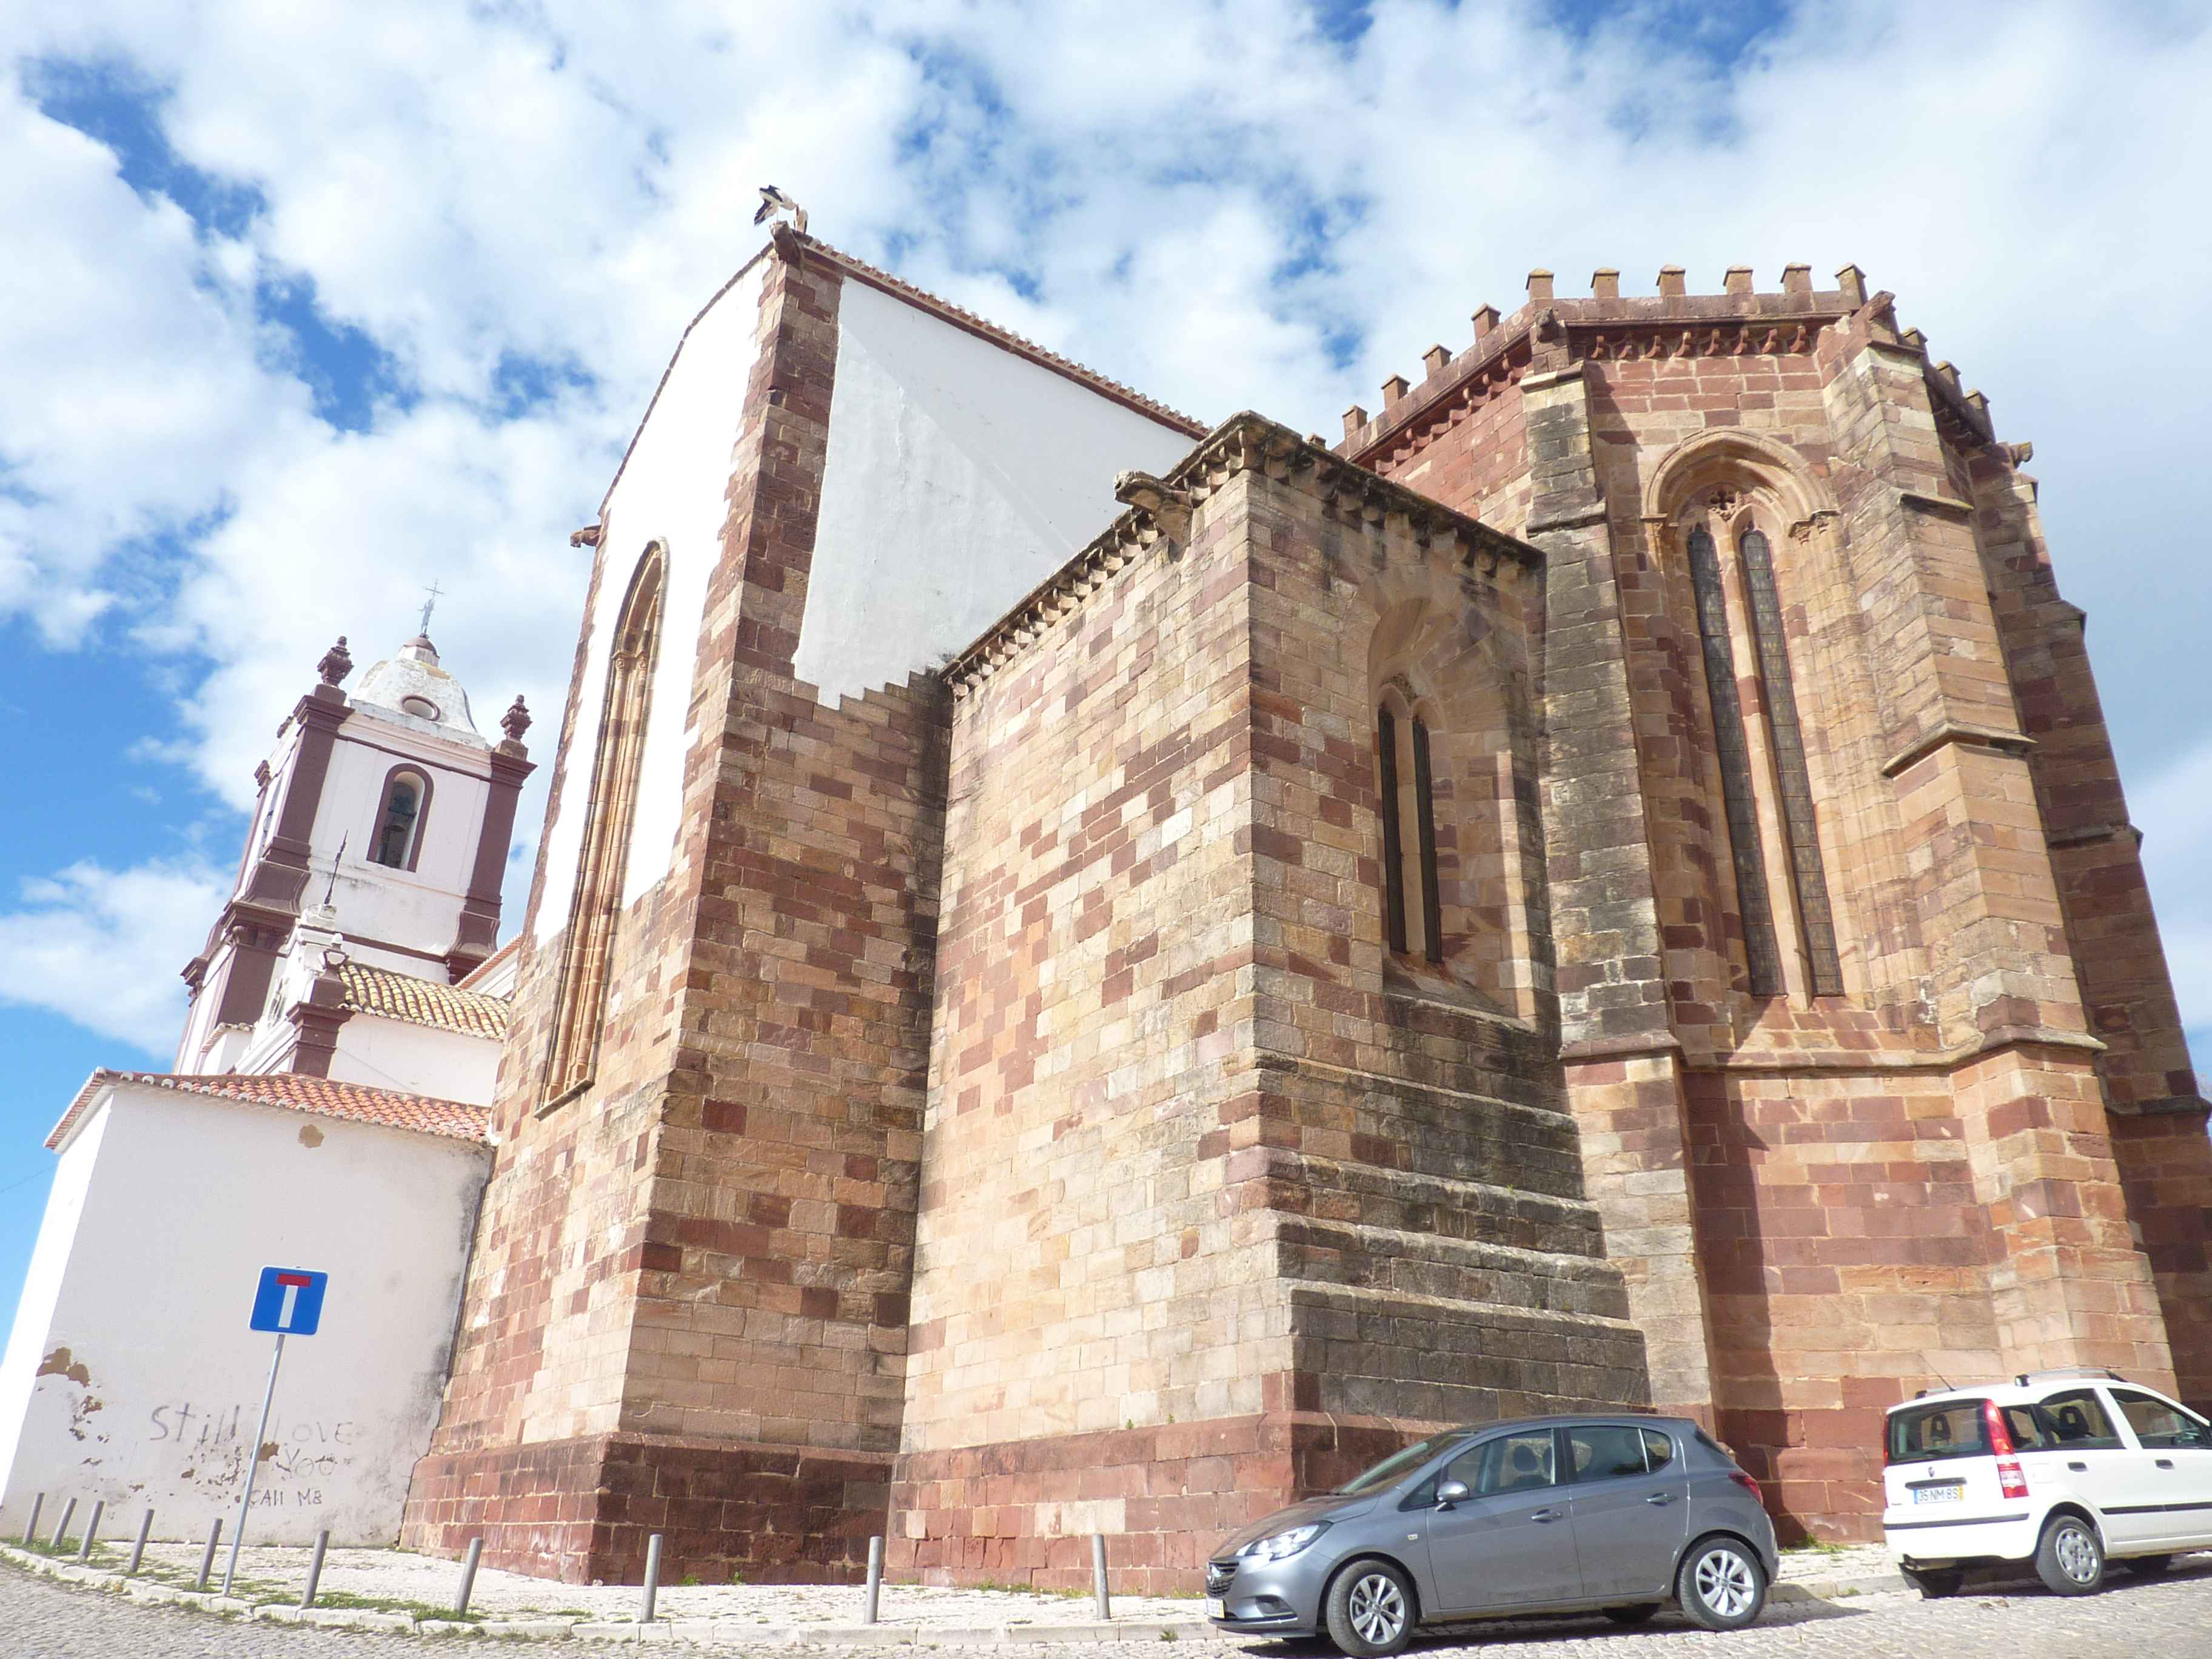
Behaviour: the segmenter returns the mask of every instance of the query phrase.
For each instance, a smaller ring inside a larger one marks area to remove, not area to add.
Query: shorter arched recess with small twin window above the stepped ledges
[[[1451,573],[1429,566],[1371,573],[1367,599],[1385,980],[1535,1018],[1535,987],[1548,982],[1533,962],[1522,856],[1540,845],[1526,821],[1535,772],[1515,739],[1493,622]]]

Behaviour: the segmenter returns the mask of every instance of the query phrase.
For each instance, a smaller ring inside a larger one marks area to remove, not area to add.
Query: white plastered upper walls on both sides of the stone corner
[[[531,927],[540,940],[568,925],[608,639],[655,540],[668,549],[668,588],[622,902],[672,865],[699,622],[761,349],[765,279],[763,252],[690,325],[606,498],[575,734],[549,807],[546,880]],[[796,677],[836,703],[936,668],[1121,511],[1117,473],[1164,473],[1192,442],[847,272]]]

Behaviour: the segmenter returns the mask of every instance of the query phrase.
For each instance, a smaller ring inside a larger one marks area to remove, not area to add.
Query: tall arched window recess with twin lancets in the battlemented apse
[[[1743,987],[1756,998],[1843,995],[1774,560],[1778,538],[1836,518],[1834,498],[1785,445],[1710,431],[1652,471],[1644,518],[1688,575],[1705,739],[1728,834],[1728,891],[1717,898],[1736,918]]]

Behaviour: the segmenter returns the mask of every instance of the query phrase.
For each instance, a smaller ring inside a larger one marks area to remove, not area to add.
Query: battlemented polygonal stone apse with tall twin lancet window
[[[1785,1533],[1871,1537],[1880,1407],[1936,1376],[2205,1396],[2205,1108],[2026,449],[1854,268],[1595,290],[1531,276],[1340,453],[1546,551],[1562,1057],[1652,1396],[1736,1444]],[[1522,440],[1478,427],[1509,396]],[[1732,562],[1752,531],[1803,761]],[[1736,641],[1739,823],[1692,533]],[[1843,995],[1783,876],[1807,799]],[[1781,995],[1736,891],[1759,865]]]

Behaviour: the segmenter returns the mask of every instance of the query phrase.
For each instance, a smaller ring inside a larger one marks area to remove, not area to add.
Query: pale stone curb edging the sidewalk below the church
[[[0,1544],[0,1559],[29,1573],[88,1590],[108,1590],[148,1606],[179,1606],[197,1613],[226,1613],[257,1624],[312,1624],[325,1630],[378,1630],[434,1639],[507,1637],[544,1641],[743,1641],[763,1648],[918,1648],[918,1646],[1053,1646],[1097,1641],[1232,1641],[1206,1619],[1130,1619],[1113,1624],[745,1624],[739,1619],[655,1619],[653,1624],[613,1619],[418,1619],[411,1613],[374,1613],[369,1608],[296,1608],[290,1604],[252,1604],[212,1590],[184,1590],[159,1579],[126,1579],[102,1566],[77,1566],[49,1555],[33,1555],[13,1544]],[[1858,1595],[1889,1595],[1909,1588],[1898,1573],[1865,1573],[1840,1579],[1796,1579],[1774,1584],[1772,1601],[1834,1601]]]

